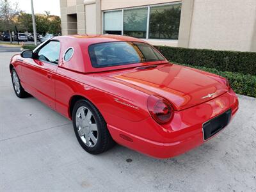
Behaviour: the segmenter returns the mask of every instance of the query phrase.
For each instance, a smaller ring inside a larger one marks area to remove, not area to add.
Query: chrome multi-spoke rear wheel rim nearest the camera
[[[98,139],[98,127],[92,111],[82,106],[76,111],[76,128],[79,137],[88,147],[94,147]]]

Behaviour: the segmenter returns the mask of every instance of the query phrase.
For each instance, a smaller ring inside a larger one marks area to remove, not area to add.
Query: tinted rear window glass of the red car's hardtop
[[[154,47],[141,42],[107,42],[89,46],[92,66],[112,67],[165,60]]]

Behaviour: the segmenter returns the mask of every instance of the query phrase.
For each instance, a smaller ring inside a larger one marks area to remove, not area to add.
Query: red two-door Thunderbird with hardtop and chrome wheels
[[[227,79],[175,65],[143,40],[57,36],[13,56],[15,93],[28,93],[73,121],[81,147],[119,143],[158,158],[211,139],[238,109]]]

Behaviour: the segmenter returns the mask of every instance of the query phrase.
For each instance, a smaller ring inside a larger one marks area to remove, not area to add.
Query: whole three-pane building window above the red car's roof
[[[178,40],[180,12],[180,2],[104,12],[103,33]]]

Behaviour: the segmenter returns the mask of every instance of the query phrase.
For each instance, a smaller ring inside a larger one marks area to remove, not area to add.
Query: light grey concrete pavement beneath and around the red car
[[[0,191],[256,191],[256,99],[239,95],[234,121],[204,145],[154,159],[120,145],[93,156],[72,122],[13,92],[0,52]]]

